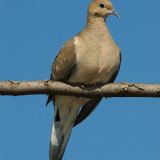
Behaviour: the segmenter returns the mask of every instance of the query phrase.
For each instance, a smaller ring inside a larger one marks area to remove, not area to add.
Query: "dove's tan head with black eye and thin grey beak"
[[[88,15],[101,17],[104,19],[106,19],[109,15],[119,17],[110,0],[93,0],[93,2],[89,5]]]

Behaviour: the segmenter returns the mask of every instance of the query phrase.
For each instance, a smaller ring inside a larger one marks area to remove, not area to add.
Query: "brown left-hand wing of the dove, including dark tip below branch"
[[[66,82],[76,68],[76,54],[74,39],[67,41],[59,51],[52,65],[50,79],[53,81]],[[54,96],[49,95],[46,105],[54,101]]]

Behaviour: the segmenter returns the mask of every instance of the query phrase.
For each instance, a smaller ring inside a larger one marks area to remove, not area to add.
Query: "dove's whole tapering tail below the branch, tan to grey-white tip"
[[[83,103],[84,101],[75,97],[56,97],[49,150],[50,160],[62,160],[75,119]]]

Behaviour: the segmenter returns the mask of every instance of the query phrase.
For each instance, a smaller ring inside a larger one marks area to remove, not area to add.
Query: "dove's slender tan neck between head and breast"
[[[111,37],[108,27],[106,25],[106,21],[102,17],[95,17],[93,15],[89,15],[87,17],[86,30],[97,34],[105,34]]]

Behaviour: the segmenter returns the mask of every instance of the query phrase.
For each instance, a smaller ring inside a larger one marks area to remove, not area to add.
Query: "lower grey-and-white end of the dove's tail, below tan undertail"
[[[60,122],[54,122],[50,142],[50,160],[62,160],[67,142],[69,140],[73,125],[67,128],[61,126]]]

